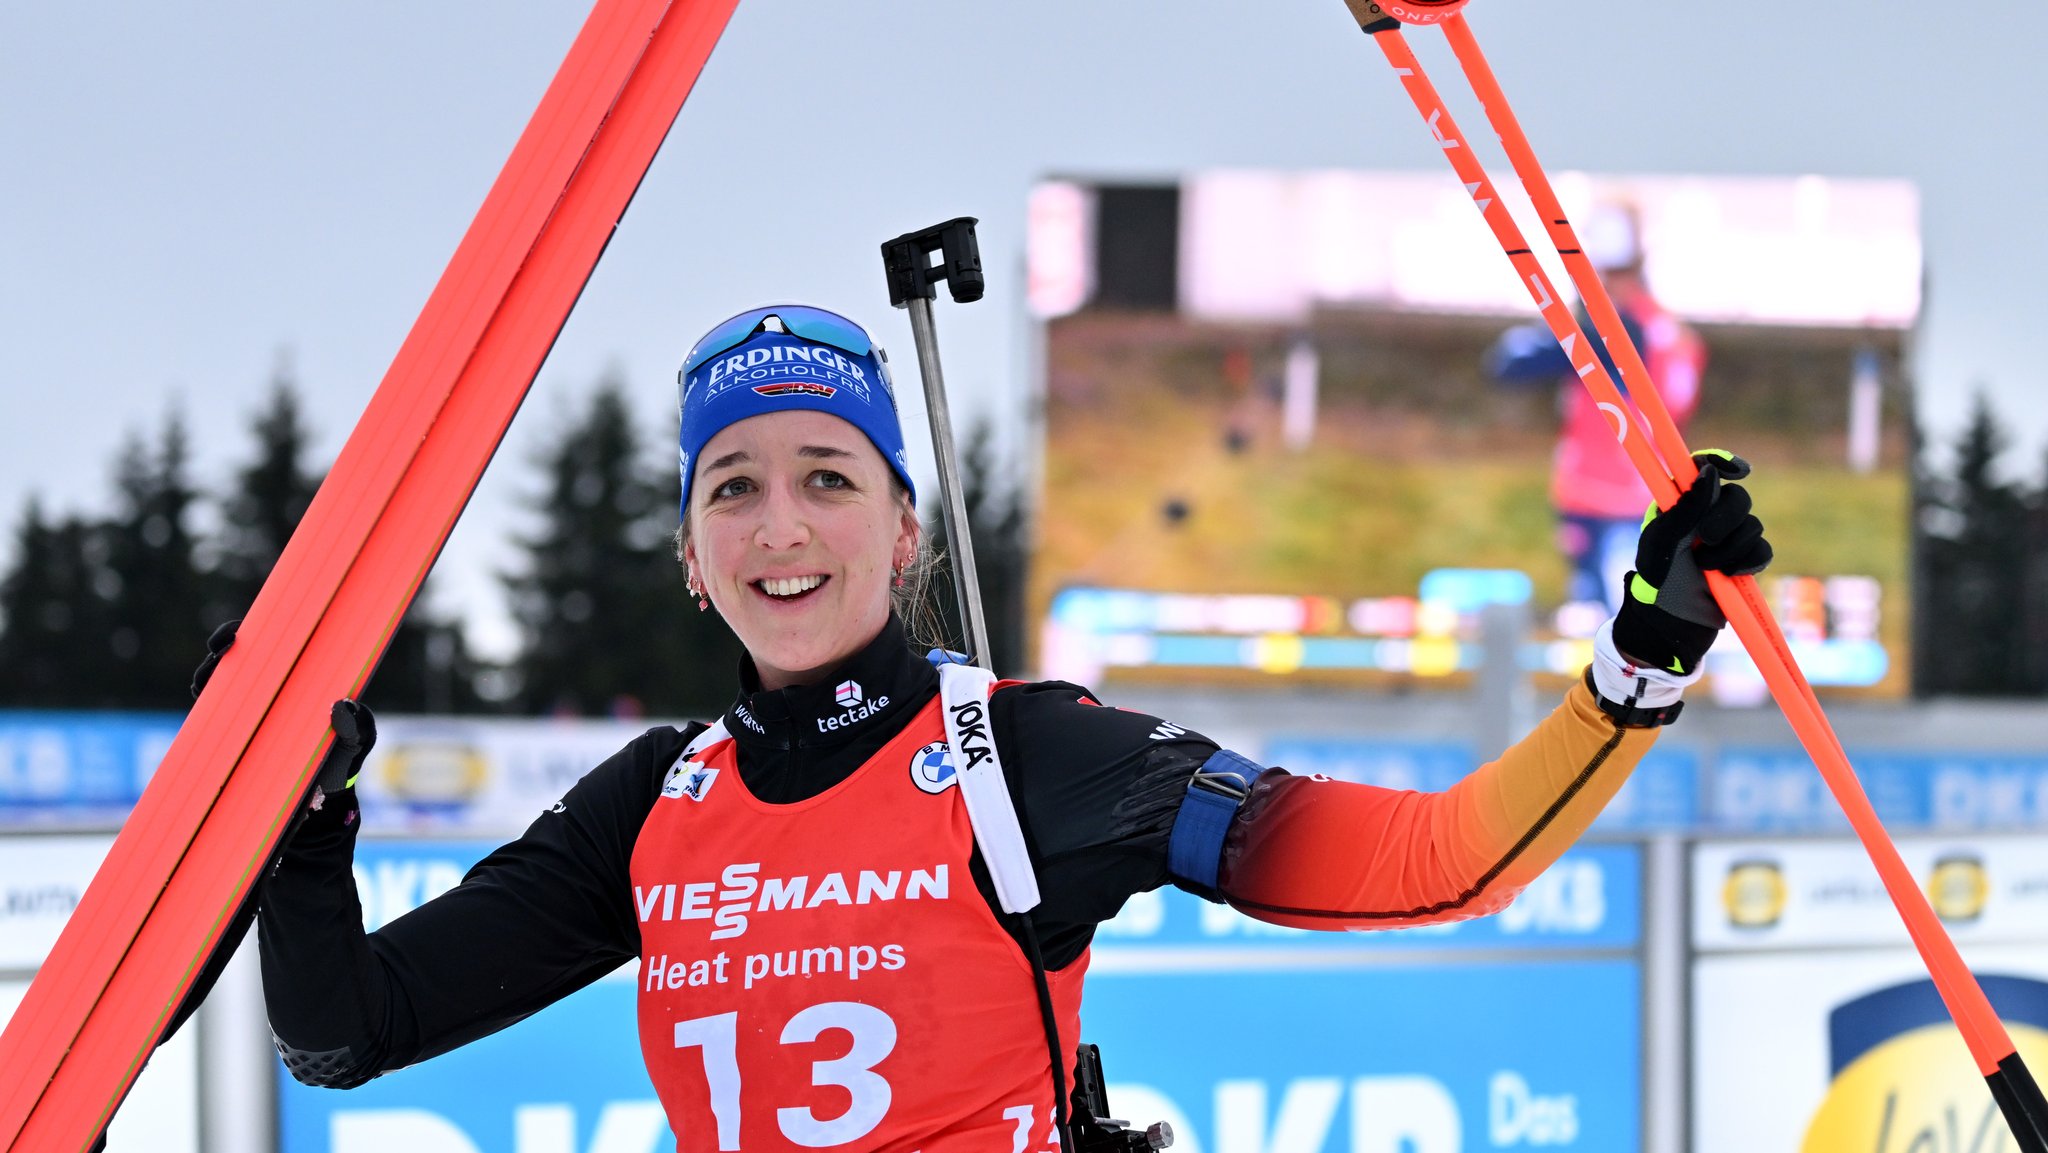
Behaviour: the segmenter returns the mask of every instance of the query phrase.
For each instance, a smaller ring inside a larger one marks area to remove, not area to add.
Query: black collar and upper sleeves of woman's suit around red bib
[[[827,729],[834,686],[889,704]],[[938,692],[938,672],[889,627],[813,686],[762,692],[752,668],[725,713],[739,774],[770,803],[805,801],[866,764]],[[1044,963],[1075,960],[1124,899],[1165,885],[1167,838],[1190,774],[1217,752],[1157,717],[1104,709],[1073,684],[989,702],[1044,901]],[[264,997],[301,1081],[350,1087],[496,1032],[639,956],[633,844],[696,729],[657,727],[586,774],[449,893],[375,934],[350,877],[352,793],[311,813],[258,891]],[[975,881],[993,907],[987,872]]]

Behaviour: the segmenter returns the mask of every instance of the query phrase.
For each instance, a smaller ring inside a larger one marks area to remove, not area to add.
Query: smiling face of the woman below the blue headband
[[[754,657],[762,688],[809,684],[889,621],[918,516],[852,424],[823,412],[719,430],[690,481],[684,561]]]

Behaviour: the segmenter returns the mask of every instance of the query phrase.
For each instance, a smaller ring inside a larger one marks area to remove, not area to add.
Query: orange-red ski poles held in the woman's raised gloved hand
[[[1372,0],[1348,0],[1352,14],[1358,16],[1360,27],[1372,35],[1374,43],[1380,45],[1380,51],[1395,68],[1395,74],[1401,78],[1409,98],[1415,102],[1415,109],[1423,115],[1432,133],[1442,143],[1446,160],[1450,160],[1458,178],[1473,195],[1475,205],[1493,227],[1501,250],[1522,274],[1538,311],[1544,315],[1544,322],[1550,326],[1550,332],[1556,336],[1567,356],[1571,356],[1573,371],[1585,381],[1587,389],[1591,389],[1602,410],[1614,418],[1616,438],[1628,453],[1630,463],[1634,463],[1645,483],[1649,483],[1657,504],[1661,508],[1669,508],[1671,500],[1677,498],[1681,483],[1690,485],[1694,475],[1698,475],[1692,465],[1692,455],[1686,449],[1669,410],[1657,395],[1657,387],[1649,379],[1649,371],[1642,365],[1640,354],[1628,340],[1628,334],[1620,324],[1620,315],[1614,309],[1614,301],[1599,283],[1599,274],[1579,250],[1577,236],[1571,231],[1571,221],[1559,205],[1556,195],[1528,143],[1528,137],[1513,119],[1513,109],[1507,104],[1507,96],[1501,92],[1493,70],[1479,51],[1479,41],[1473,37],[1470,27],[1458,12],[1464,0],[1407,0],[1389,2],[1382,8]],[[1520,227],[1516,227],[1507,209],[1493,193],[1479,158],[1464,147],[1456,121],[1452,121],[1444,109],[1442,98],[1436,94],[1427,74],[1401,35],[1403,20],[1444,25],[1460,68],[1473,82],[1481,104],[1487,109],[1489,123],[1507,150],[1507,156],[1528,188],[1530,199],[1536,203],[1538,213],[1544,217],[1546,227],[1550,229],[1550,240],[1559,248],[1559,256],[1565,260],[1575,287],[1587,301],[1587,313],[1608,340],[1608,348],[1616,356],[1616,365],[1622,369],[1630,395],[1638,399],[1642,414],[1649,418],[1651,436],[1655,438],[1657,449],[1661,449],[1665,459],[1671,461],[1671,471],[1667,471],[1657,461],[1657,455],[1651,453],[1649,444],[1645,444],[1640,428],[1630,416],[1630,405],[1614,387],[1614,381],[1602,369],[1597,356],[1591,356],[1591,350],[1585,350],[1587,354],[1581,362],[1577,346],[1585,344],[1585,332],[1579,328],[1571,311],[1559,303],[1556,291],[1530,254]],[[1634,430],[1636,436],[1630,436],[1630,430]],[[1792,659],[1792,651],[1786,645],[1784,635],[1778,631],[1778,623],[1769,614],[1761,590],[1753,578],[1731,580],[1720,573],[1710,573],[1710,588],[1716,602],[1722,606],[1722,612],[1726,612],[1731,625],[1735,625],[1737,637],[1763,672],[1765,684],[1786,711],[1786,719],[1798,733],[1800,743],[1806,748],[1808,756],[1812,756],[1815,766],[1821,770],[1823,780],[1835,797],[1835,803],[1841,807],[1843,815],[1847,815],[1858,840],[1862,840],[1864,850],[1870,854],[1892,905],[1898,909],[1921,960],[1933,977],[1935,989],[1942,993],[1950,1016],[1956,1020],[1956,1026],[1962,1032],[1978,1071],[1985,1075],[1993,1098],[2003,1110],[2007,1124],[2028,1153],[2048,1153],[2048,1102],[2044,1102],[2040,1087],[2036,1085],[2025,1063],[2019,1059],[2011,1036],[1993,1012],[1991,1001],[1976,983],[1976,977],[1970,973],[1968,965],[1964,965],[1962,954],[1956,950],[1956,942],[1942,928],[1942,922],[1935,917],[1933,907],[1929,907],[1927,897],[1921,893],[1919,885],[1915,885],[1905,860],[1901,860],[1898,848],[1884,831],[1870,799],[1864,795],[1862,782],[1855,778],[1855,770],[1849,766],[1847,756],[1841,750],[1841,741],[1835,737],[1833,727],[1821,711],[1819,698],[1812,694],[1812,686],[1798,672],[1798,664]]]

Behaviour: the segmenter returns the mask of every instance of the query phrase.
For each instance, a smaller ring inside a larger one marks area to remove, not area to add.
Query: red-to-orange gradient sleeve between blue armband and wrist
[[[1616,725],[1581,682],[1444,793],[1268,772],[1225,840],[1223,895],[1262,922],[1315,930],[1497,913],[1579,840],[1655,739]]]

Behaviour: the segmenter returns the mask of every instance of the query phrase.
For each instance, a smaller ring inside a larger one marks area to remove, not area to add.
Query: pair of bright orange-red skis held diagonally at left
[[[737,0],[600,0],[0,1034],[0,1149],[86,1149],[498,449]]]

